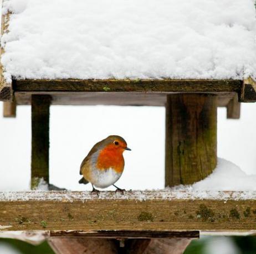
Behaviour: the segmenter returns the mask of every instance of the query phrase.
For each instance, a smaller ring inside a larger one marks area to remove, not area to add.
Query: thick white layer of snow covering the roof
[[[217,78],[256,73],[253,0],[4,0],[6,77]]]

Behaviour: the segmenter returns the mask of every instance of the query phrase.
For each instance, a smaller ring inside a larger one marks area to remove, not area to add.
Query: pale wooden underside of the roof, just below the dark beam
[[[52,105],[146,105],[165,107],[167,94],[173,92],[16,92],[18,105],[30,105],[32,94],[49,94]],[[218,107],[226,107],[235,92],[213,92]]]

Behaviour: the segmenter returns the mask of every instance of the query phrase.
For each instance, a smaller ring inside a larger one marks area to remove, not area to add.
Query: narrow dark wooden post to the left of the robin
[[[32,162],[31,188],[38,186],[40,179],[49,183],[49,109],[51,97],[32,95]]]

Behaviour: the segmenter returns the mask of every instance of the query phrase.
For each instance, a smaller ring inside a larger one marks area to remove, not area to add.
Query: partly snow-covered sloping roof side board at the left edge
[[[8,22],[9,22],[9,13],[7,15],[2,15],[1,19],[1,35],[8,32]],[[0,58],[4,53],[4,49],[1,46]],[[4,77],[3,66],[0,62],[0,100],[8,101],[13,99],[13,90],[12,82],[7,81]]]

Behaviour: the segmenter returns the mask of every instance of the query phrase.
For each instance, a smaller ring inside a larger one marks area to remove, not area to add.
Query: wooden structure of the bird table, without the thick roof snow
[[[8,14],[2,17],[2,34],[7,26]],[[217,107],[238,119],[240,102],[256,101],[252,78],[7,82],[0,68],[4,117],[15,117],[17,105],[32,106],[32,189],[40,178],[49,183],[50,105],[166,107],[165,185],[176,186],[200,181],[216,167]],[[70,254],[182,253],[199,231],[255,233],[255,193],[220,192],[217,199],[178,194],[0,193],[0,230],[21,231],[23,239],[43,234],[55,252]]]

